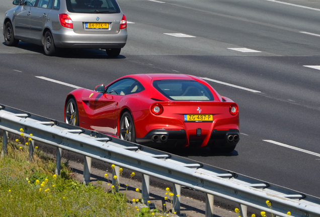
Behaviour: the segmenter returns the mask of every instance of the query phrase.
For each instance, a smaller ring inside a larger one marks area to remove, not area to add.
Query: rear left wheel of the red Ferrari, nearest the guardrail
[[[128,112],[125,112],[121,117],[119,134],[120,139],[135,142],[135,130],[133,119],[131,114]]]

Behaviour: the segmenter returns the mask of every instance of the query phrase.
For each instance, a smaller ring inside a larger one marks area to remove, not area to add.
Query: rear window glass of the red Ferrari
[[[208,87],[192,80],[155,80],[153,86],[172,100],[213,101]]]

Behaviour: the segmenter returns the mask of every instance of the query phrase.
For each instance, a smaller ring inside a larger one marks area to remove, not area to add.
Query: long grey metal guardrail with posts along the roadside
[[[113,183],[120,183],[120,167],[142,173],[143,201],[149,198],[149,176],[152,176],[172,182],[175,195],[181,195],[181,186],[206,193],[206,216],[213,216],[215,195],[239,203],[239,214],[243,217],[247,217],[247,206],[270,212],[266,200],[272,203],[276,216],[287,216],[290,211],[291,216],[320,217],[318,197],[0,104],[2,155],[7,150],[8,132],[20,135],[21,128],[33,141],[57,147],[56,174],[60,173],[62,149],[85,156],[86,184],[90,181],[92,158],[117,165],[114,171],[117,180],[113,179]],[[34,142],[29,157],[33,148]],[[180,196],[174,196],[173,204],[179,214]]]

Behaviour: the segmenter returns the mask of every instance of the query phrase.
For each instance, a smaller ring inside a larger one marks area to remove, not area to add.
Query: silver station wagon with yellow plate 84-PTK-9
[[[127,42],[127,21],[115,0],[14,0],[6,12],[5,43],[41,45],[48,56],[59,48],[106,49],[117,57]]]

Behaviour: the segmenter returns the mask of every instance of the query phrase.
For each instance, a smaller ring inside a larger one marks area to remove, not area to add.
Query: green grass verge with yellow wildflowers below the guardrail
[[[30,162],[28,147],[19,147],[19,143],[9,142],[8,155],[0,159],[0,216],[137,215],[125,194],[80,184],[70,177],[65,164],[55,178],[55,160],[36,149]]]

